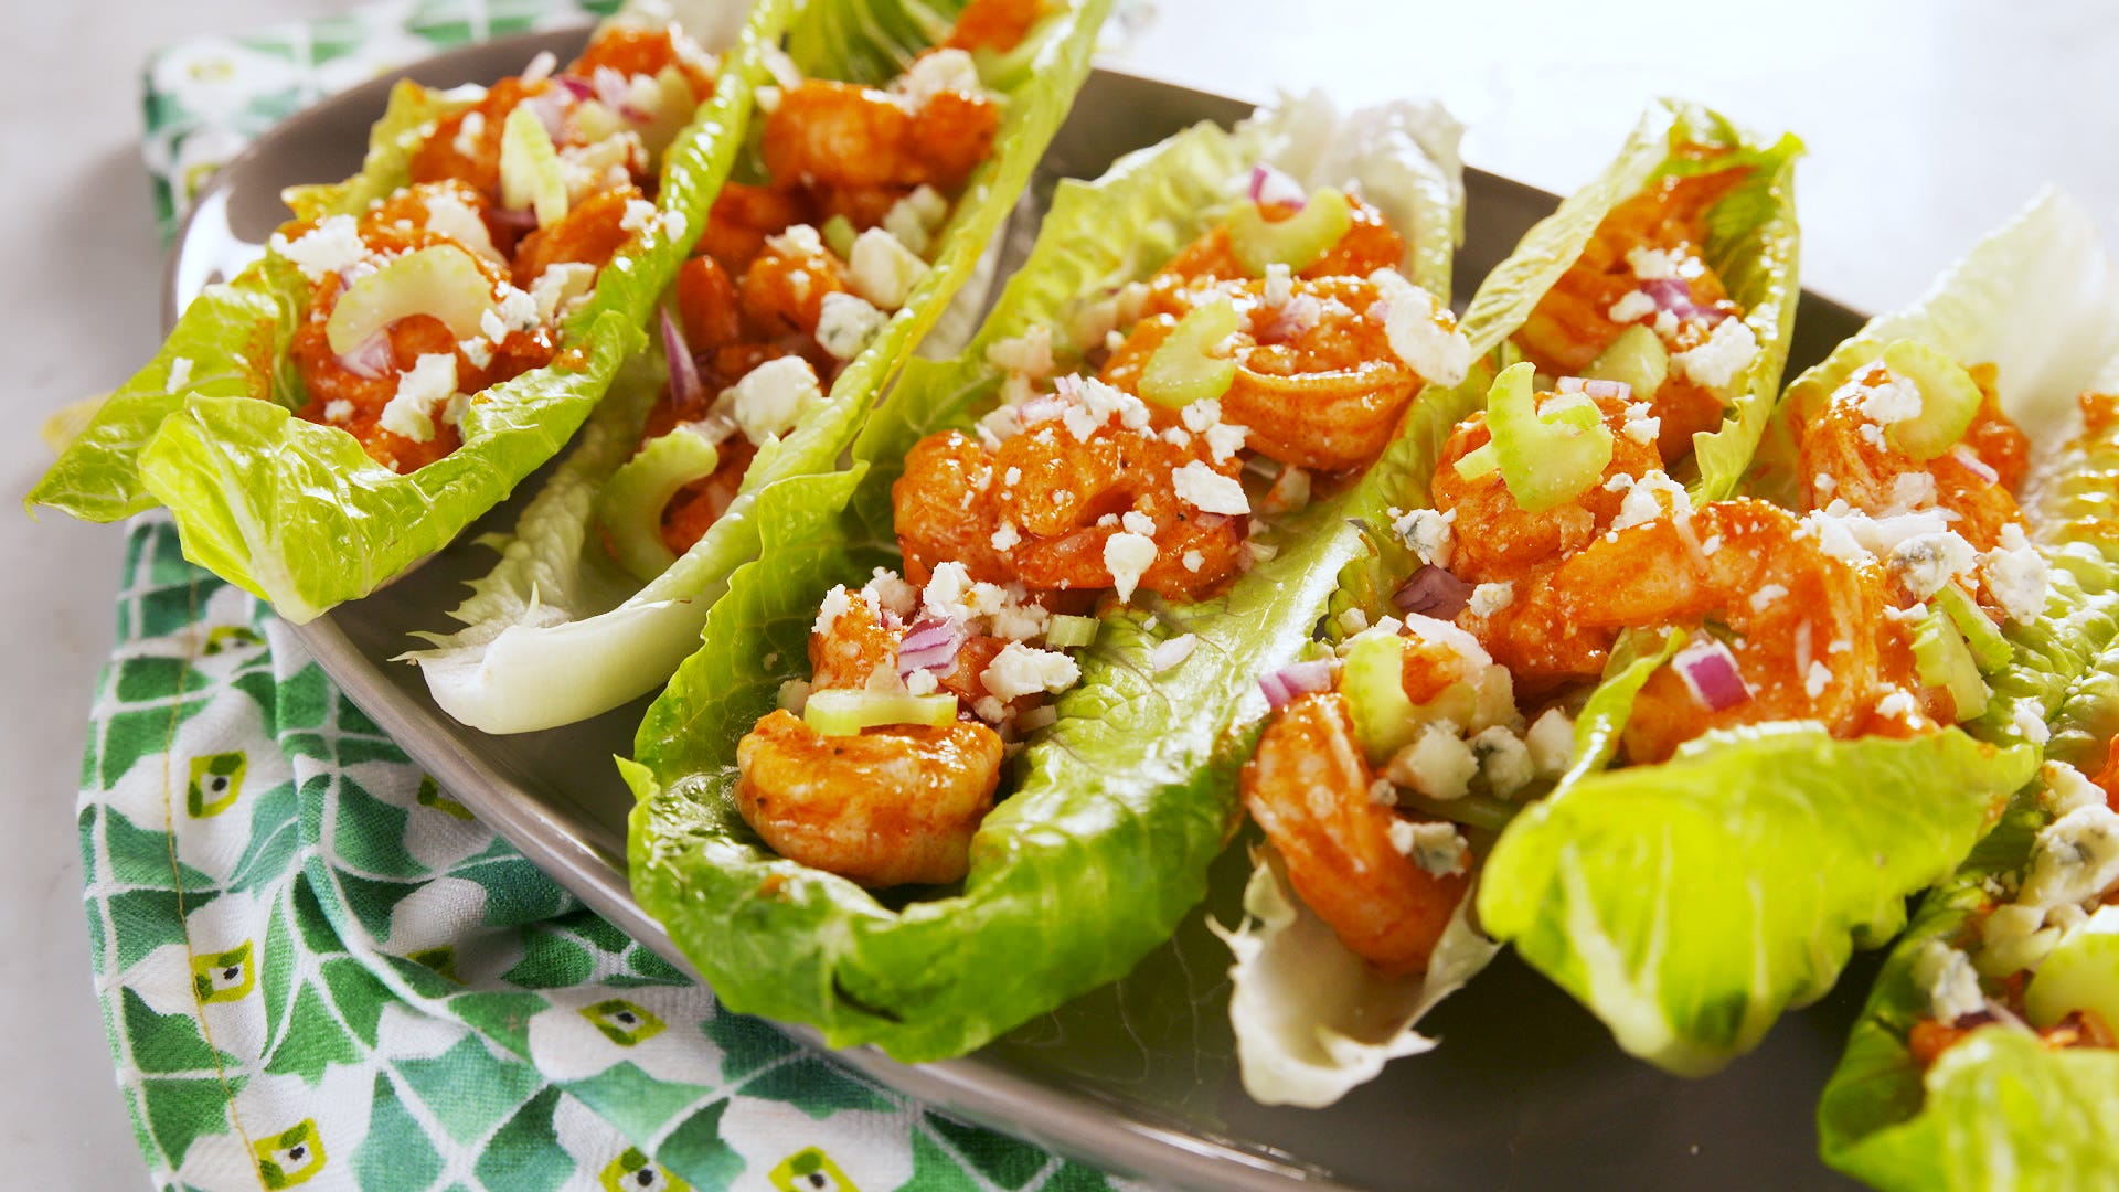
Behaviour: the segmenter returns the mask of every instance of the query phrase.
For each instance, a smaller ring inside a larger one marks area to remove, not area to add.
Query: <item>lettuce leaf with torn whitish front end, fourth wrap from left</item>
[[[1409,433],[1413,448],[1392,477],[1394,507],[1430,505],[1441,445],[1464,416],[1483,405],[1494,371],[1513,356],[1509,337],[1583,255],[1613,208],[1666,176],[1699,168],[1699,157],[1685,146],[1731,151],[1714,159],[1716,168],[1752,168],[1710,210],[1708,261],[1744,308],[1742,318],[1759,352],[1735,378],[1723,424],[1699,433],[1689,456],[1691,488],[1702,501],[1729,492],[1767,424],[1786,361],[1799,288],[1793,170],[1801,146],[1793,138],[1761,144],[1716,112],[1663,102],[1646,112],[1600,178],[1538,223],[1481,282],[1466,310],[1464,333],[1475,352],[1492,356],[1490,367],[1422,403],[1420,422]],[[1420,566],[1394,534],[1375,534],[1369,545],[1371,551],[1341,575],[1333,604],[1339,615],[1326,621],[1329,636],[1394,615],[1392,590]],[[1352,617],[1350,609],[1356,611]],[[1649,649],[1649,658],[1615,658],[1608,679],[1577,719],[1579,772],[1610,755],[1632,691],[1668,658],[1668,649],[1655,649],[1657,643],[1638,645]],[[1496,802],[1494,814],[1504,819],[1511,812]],[[1244,910],[1250,921],[1227,935],[1235,952],[1229,1010],[1244,1086],[1261,1103],[1329,1105],[1375,1077],[1390,1058],[1432,1048],[1435,1041],[1420,1035],[1415,1022],[1498,952],[1498,944],[1475,925],[1466,897],[1424,974],[1386,976],[1303,906],[1271,846],[1259,851]]]

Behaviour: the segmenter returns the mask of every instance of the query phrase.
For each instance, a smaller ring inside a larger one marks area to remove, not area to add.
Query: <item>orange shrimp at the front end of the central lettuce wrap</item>
[[[954,882],[1000,757],[1000,734],[975,721],[822,736],[776,711],[735,747],[735,808],[782,857],[862,887]]]

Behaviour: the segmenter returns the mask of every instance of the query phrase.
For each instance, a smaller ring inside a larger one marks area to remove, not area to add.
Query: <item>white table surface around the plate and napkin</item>
[[[140,168],[138,68],[174,38],[343,11],[326,0],[0,0],[0,261],[17,426],[0,492],[34,484],[53,407],[119,384],[157,341],[161,250]],[[1778,8],[1778,11],[1776,11]],[[1776,11],[1771,25],[1733,23]],[[2094,0],[1793,0],[1778,6],[1543,0],[1161,0],[1119,59],[1210,89],[1437,95],[1473,165],[1566,191],[1661,93],[1793,127],[1803,280],[1880,310],[2043,182],[2111,233],[2119,23]],[[74,787],[110,647],[121,530],[0,503],[0,1184],[138,1188],[144,1171],[89,982]]]

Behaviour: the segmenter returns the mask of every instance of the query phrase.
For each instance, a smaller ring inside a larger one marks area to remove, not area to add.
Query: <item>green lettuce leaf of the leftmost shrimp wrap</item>
[[[735,161],[752,93],[767,78],[765,51],[793,11],[793,0],[752,8],[723,55],[714,95],[663,155],[657,218],[619,248],[564,320],[551,365],[477,395],[462,448],[398,475],[343,428],[297,418],[305,395],[288,344],[309,288],[286,259],[267,255],[193,301],[155,361],[30,492],[30,505],[110,522],[161,503],[186,558],[297,624],[441,549],[572,439],[619,363],[644,344],[642,327]],[[356,214],[396,191],[434,123],[468,102],[400,85],[360,176],[292,191],[297,216]]]

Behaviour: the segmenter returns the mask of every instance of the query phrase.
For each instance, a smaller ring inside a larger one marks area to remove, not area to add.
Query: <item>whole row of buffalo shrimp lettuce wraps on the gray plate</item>
[[[831,1046],[979,1048],[1237,846],[1261,1103],[1437,1046],[1502,946],[1704,1075],[1920,897],[1824,1158],[2111,1181],[2089,216],[2032,201],[1782,390],[1793,136],[1657,104],[1458,318],[1458,125],[1282,100],[1062,182],[981,320],[1108,8],[638,6],[400,85],[30,501],[163,505],[307,621],[540,473],[407,658],[483,732],[655,696],[640,906]]]

